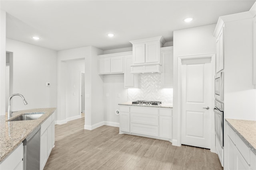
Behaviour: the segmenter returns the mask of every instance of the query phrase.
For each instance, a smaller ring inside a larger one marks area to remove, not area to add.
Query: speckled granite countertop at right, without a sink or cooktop
[[[256,153],[256,121],[226,119],[237,135]]]

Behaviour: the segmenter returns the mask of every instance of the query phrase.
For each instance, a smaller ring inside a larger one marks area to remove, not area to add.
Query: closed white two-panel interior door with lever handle
[[[211,62],[211,58],[182,60],[181,143],[184,145],[211,148]]]

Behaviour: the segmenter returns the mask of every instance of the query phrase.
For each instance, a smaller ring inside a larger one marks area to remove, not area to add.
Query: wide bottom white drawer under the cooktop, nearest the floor
[[[131,133],[158,137],[158,126],[131,123]]]

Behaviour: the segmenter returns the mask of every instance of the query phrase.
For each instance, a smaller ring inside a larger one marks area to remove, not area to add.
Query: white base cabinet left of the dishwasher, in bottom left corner
[[[23,170],[23,143],[0,162],[0,170]]]

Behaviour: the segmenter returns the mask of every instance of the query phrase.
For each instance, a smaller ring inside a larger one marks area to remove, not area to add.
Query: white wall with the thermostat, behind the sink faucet
[[[6,39],[6,51],[13,53],[12,110],[57,106],[57,52],[51,49]],[[50,82],[50,87],[46,86]]]

